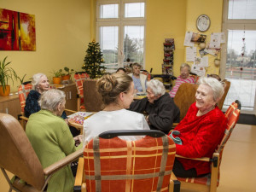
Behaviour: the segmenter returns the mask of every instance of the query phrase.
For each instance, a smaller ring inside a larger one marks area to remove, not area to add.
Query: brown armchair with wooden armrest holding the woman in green
[[[43,169],[25,131],[17,119],[6,113],[0,113],[0,148],[0,168],[9,183],[9,191],[44,191],[52,174],[83,154],[80,149]],[[15,174],[14,182],[6,171]]]

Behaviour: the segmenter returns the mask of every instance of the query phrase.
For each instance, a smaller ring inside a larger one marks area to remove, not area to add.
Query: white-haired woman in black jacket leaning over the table
[[[172,129],[172,123],[179,121],[179,108],[159,80],[151,79],[147,82],[147,87],[147,97],[132,102],[129,109],[146,113],[150,129],[168,133]]]

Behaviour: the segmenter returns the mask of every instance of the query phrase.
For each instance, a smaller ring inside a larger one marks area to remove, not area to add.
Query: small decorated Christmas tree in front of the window
[[[101,78],[105,73],[106,67],[102,66],[102,63],[104,62],[102,55],[99,43],[96,43],[95,41],[89,43],[82,69],[84,69],[85,73],[90,75],[90,79]]]

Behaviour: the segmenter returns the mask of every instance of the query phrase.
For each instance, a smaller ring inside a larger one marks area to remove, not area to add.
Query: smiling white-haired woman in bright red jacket
[[[170,136],[176,142],[177,154],[211,158],[226,128],[224,113],[217,107],[224,94],[224,85],[213,78],[201,78],[199,84],[196,102]],[[209,162],[177,158],[173,172],[177,177],[201,177],[211,170]]]

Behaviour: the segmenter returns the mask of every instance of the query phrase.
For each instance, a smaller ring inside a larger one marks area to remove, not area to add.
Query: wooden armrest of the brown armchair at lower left
[[[79,156],[83,155],[83,151],[84,151],[83,148],[80,148],[73,154],[67,155],[67,157],[65,157],[64,159],[59,160],[54,164],[44,168],[44,175],[49,176],[53,172],[60,170],[63,166],[67,166],[69,163],[73,162],[74,160],[79,159]]]

